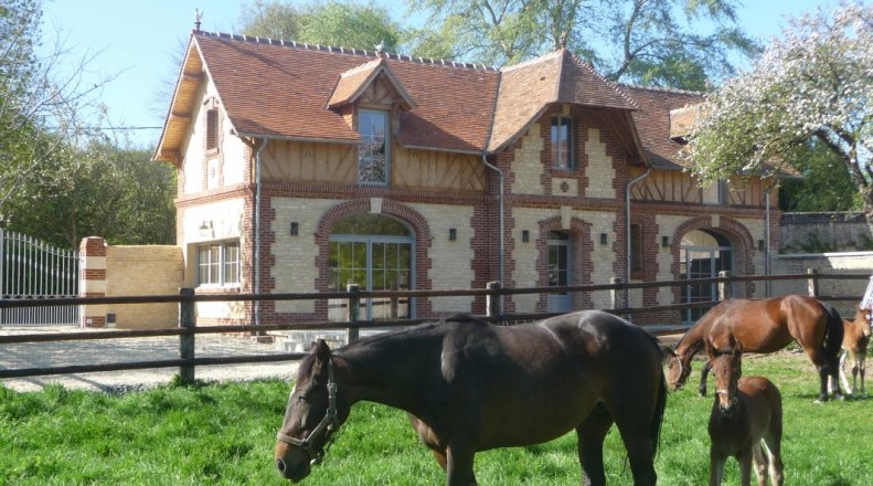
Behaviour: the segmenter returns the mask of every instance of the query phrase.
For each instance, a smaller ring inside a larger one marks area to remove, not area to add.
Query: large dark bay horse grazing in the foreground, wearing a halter
[[[292,483],[304,479],[351,406],[371,401],[407,412],[449,486],[476,484],[479,451],[572,430],[583,476],[604,485],[603,444],[613,423],[634,484],[654,485],[667,402],[662,360],[656,338],[599,310],[509,327],[454,316],[336,351],[319,340],[298,368],[276,467]]]

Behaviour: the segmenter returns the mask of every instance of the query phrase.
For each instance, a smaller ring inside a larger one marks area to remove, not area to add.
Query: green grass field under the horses
[[[695,380],[670,393],[656,468],[661,485],[709,480],[712,398]],[[787,485],[873,484],[873,400],[815,404],[818,378],[792,351],[747,357],[745,374],[764,374],[785,403]],[[712,381],[710,389],[712,390]],[[0,483],[10,485],[283,485],[273,465],[289,383],[164,387],[113,395],[49,388],[0,388]],[[533,419],[535,420],[535,419]],[[630,485],[615,429],[607,437],[610,485]],[[578,485],[575,436],[476,457],[481,485]],[[440,485],[445,476],[403,412],[359,403],[307,485]],[[736,462],[724,484],[738,484]]]

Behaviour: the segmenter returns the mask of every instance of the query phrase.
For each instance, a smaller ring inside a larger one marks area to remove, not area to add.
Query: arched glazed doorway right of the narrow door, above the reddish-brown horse
[[[682,278],[717,277],[718,272],[733,271],[733,246],[723,234],[706,229],[694,230],[682,236],[679,264]],[[688,285],[682,292],[683,303],[711,302],[717,298],[718,285],[715,283]],[[709,309],[688,309],[683,320],[685,324],[693,324]]]

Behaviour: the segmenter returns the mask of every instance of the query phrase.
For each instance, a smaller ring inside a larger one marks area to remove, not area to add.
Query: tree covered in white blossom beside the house
[[[819,141],[843,162],[873,228],[873,6],[792,20],[754,64],[706,97],[685,157],[702,183],[797,170]]]

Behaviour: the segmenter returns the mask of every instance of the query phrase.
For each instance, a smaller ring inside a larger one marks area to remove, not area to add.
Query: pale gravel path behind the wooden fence
[[[105,329],[99,329],[105,330]],[[36,332],[89,332],[75,327],[0,328],[0,335]],[[199,335],[194,353],[199,358],[268,355],[280,352],[273,344],[260,344],[251,337]],[[26,342],[0,348],[0,369],[42,368],[75,364],[97,364],[121,361],[151,361],[179,357],[179,338],[94,339],[85,341]],[[204,381],[246,381],[263,378],[290,379],[297,370],[296,361],[258,364],[227,364],[196,367],[195,378]],[[45,376],[0,380],[3,387],[17,391],[36,391],[47,384],[60,383],[71,389],[125,392],[143,390],[169,383],[179,368],[107,371],[95,373]]]

